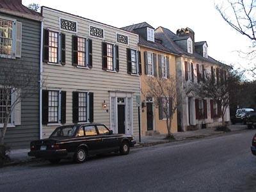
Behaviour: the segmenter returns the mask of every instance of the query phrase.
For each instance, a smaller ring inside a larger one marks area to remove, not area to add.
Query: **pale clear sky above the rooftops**
[[[147,22],[155,29],[162,26],[176,33],[188,27],[195,32],[195,42],[207,42],[209,56],[238,68],[245,61],[237,51],[252,42],[222,19],[214,5],[222,1],[227,0],[22,0],[22,4],[38,3],[116,28]]]

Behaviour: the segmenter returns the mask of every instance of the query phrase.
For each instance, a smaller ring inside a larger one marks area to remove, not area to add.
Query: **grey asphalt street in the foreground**
[[[256,191],[255,130],[132,148],[84,164],[46,161],[0,169],[1,191]]]

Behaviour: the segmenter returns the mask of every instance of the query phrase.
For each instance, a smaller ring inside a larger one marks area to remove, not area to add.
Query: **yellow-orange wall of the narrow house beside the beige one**
[[[166,52],[161,51],[155,51],[153,49],[148,49],[145,47],[140,47],[141,51],[141,102],[146,101],[147,97],[147,85],[145,83],[145,80],[147,78],[147,75],[145,75],[145,51],[154,52],[157,54],[157,77],[159,76],[159,68],[158,68],[158,54],[161,54],[163,56],[169,57],[169,70],[170,70],[170,76],[176,77],[175,72],[175,56],[173,54],[169,54]],[[166,128],[166,120],[159,120],[159,108],[154,106],[154,130],[160,132],[160,134],[167,134],[167,128]],[[141,134],[145,135],[147,132],[147,107],[141,108]],[[177,132],[177,111],[173,114],[172,119],[172,127],[171,132]]]

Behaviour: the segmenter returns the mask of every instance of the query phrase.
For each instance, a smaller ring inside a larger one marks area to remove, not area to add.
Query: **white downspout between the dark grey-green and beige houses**
[[[42,88],[43,88],[43,35],[44,33],[44,20],[41,21],[41,41],[40,41],[40,90],[39,90],[39,138],[43,138],[42,129]]]

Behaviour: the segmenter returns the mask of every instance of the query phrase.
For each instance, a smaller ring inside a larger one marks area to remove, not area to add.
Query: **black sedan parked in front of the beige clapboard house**
[[[65,125],[57,127],[51,136],[30,143],[28,156],[43,158],[51,163],[72,158],[83,163],[86,157],[109,152],[129,154],[134,138],[127,134],[113,134],[103,124]]]

